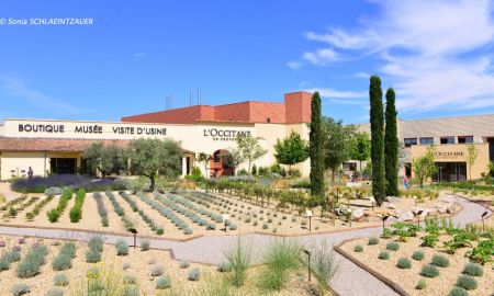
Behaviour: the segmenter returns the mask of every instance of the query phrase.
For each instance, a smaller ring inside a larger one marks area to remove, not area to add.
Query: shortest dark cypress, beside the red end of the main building
[[[321,96],[314,92],[311,102],[308,157],[311,158],[311,194],[324,196],[324,135]]]

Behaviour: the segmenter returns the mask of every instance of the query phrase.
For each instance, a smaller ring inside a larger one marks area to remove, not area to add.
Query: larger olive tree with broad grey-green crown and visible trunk
[[[182,151],[172,139],[136,139],[127,146],[130,170],[133,174],[147,177],[150,191],[155,190],[156,178],[177,177],[181,171]]]

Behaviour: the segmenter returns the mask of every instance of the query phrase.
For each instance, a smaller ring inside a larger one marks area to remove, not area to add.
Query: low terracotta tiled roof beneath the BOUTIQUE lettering
[[[0,137],[0,151],[9,152],[82,152],[93,143],[126,146],[130,140],[54,139]],[[184,153],[193,151],[182,149]]]

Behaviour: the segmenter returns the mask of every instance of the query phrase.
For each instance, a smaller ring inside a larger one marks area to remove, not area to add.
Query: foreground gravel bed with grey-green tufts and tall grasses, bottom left
[[[330,295],[325,281],[338,269],[326,244],[312,249],[313,282],[307,282],[302,248],[273,241],[261,264],[238,242],[224,261],[202,265],[173,260],[147,240],[137,248],[120,240],[89,241],[0,236],[0,295]]]

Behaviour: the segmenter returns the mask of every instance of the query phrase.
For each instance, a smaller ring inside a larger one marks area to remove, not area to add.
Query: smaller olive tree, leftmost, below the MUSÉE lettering
[[[105,145],[102,141],[92,143],[82,152],[82,158],[91,173],[101,173],[101,178],[105,178],[112,172],[119,172],[124,168],[124,157],[122,148],[115,144]]]

